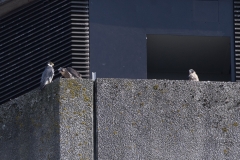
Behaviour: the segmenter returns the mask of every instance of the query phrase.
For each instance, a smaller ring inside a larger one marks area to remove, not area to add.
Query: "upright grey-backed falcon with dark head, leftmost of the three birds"
[[[48,62],[45,70],[42,73],[40,89],[42,90],[47,84],[52,82],[54,76],[54,64],[52,62]]]

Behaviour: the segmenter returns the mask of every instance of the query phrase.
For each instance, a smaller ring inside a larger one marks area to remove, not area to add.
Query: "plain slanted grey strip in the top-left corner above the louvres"
[[[35,0],[6,0],[5,3],[0,4],[0,17],[33,1]]]

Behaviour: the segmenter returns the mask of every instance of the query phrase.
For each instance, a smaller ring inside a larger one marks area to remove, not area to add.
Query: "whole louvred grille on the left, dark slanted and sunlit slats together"
[[[1,18],[0,104],[40,85],[46,63],[89,78],[88,0],[34,1]]]

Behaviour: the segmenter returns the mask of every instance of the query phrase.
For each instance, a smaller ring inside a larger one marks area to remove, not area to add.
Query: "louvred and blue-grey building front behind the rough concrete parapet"
[[[0,101],[38,87],[48,60],[55,69],[72,66],[84,78],[94,71],[99,78],[186,80],[194,69],[201,81],[237,81],[238,5],[2,0]]]

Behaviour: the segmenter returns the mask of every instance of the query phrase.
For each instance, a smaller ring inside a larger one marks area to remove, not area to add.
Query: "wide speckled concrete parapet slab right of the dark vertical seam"
[[[239,160],[240,84],[97,79],[99,160]]]

